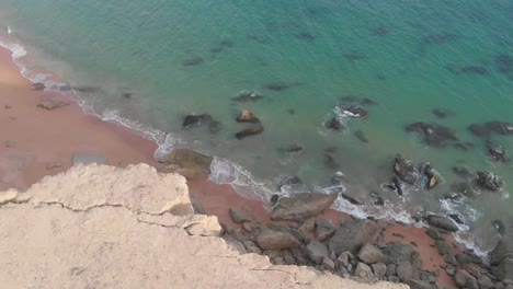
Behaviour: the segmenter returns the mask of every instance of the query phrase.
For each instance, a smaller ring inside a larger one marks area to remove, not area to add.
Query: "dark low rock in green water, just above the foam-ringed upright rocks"
[[[407,126],[406,130],[420,134],[428,146],[435,148],[445,147],[458,140],[456,131],[436,124],[418,122]]]

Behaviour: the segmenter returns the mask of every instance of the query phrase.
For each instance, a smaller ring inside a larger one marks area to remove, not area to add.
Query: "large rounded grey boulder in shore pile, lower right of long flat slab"
[[[376,240],[380,227],[372,220],[352,220],[343,223],[329,242],[330,251],[342,253],[344,251],[355,252],[365,243]]]

